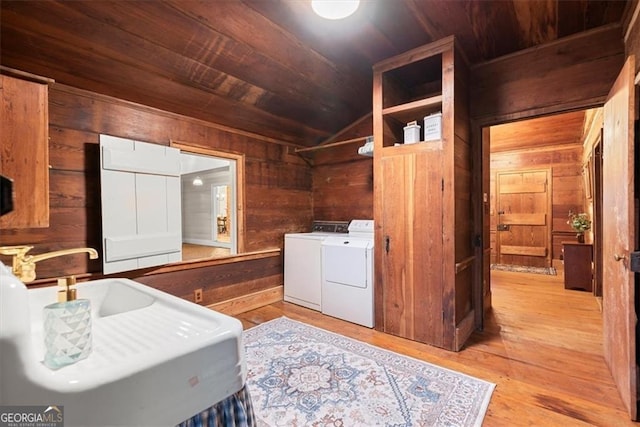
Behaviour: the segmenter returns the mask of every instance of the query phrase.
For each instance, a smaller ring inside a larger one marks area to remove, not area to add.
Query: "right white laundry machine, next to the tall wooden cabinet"
[[[322,241],[322,313],[374,326],[373,220],[353,220],[347,236]]]

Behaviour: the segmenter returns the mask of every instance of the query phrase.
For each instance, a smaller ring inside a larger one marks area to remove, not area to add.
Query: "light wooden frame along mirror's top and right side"
[[[229,151],[214,150],[211,148],[198,147],[193,144],[182,141],[171,140],[169,146],[177,148],[180,151],[191,154],[200,154],[203,156],[220,157],[223,159],[233,160],[236,162],[236,255],[246,252],[244,245],[244,170],[245,156],[240,153],[232,153]]]

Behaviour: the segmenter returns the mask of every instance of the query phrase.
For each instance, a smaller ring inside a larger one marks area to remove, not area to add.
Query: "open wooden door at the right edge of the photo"
[[[602,317],[604,355],[632,419],[637,418],[635,273],[634,69],[627,58],[604,106]]]

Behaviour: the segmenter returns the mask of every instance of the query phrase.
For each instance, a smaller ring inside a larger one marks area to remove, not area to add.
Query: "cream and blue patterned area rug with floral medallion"
[[[480,426],[495,387],[285,317],[244,341],[258,426]]]

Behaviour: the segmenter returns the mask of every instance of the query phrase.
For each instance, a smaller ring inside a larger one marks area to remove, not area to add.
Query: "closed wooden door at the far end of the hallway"
[[[551,171],[508,171],[496,174],[499,264],[551,266]]]

